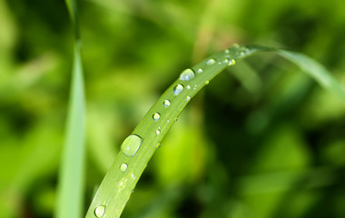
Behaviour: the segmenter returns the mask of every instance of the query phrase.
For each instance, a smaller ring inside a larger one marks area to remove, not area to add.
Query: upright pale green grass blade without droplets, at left
[[[76,3],[66,1],[74,22],[74,67],[61,158],[55,217],[77,218],[84,202],[84,79]]]

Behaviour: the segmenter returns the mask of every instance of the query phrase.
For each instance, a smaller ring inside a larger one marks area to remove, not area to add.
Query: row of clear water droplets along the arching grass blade
[[[229,54],[230,51],[227,49],[224,51],[225,54]],[[243,54],[244,55],[244,54]],[[226,65],[233,65],[235,64],[235,60],[234,59],[229,59],[228,57],[224,57],[221,60],[216,60],[214,58],[210,58],[206,61],[205,63],[207,66],[211,66],[213,64],[226,64]],[[197,74],[202,74],[203,70],[202,68],[199,68],[198,70],[196,70]],[[186,69],[182,72],[182,74],[180,74],[180,80],[184,81],[184,82],[190,82],[195,78],[196,74],[194,73],[194,71],[192,69]],[[204,84],[209,84],[209,81],[205,81]],[[195,90],[197,87],[197,84],[193,85],[193,89]],[[191,85],[187,84],[186,89],[191,89]],[[183,84],[176,84],[173,87],[173,94],[174,95],[179,95],[182,93],[184,89]],[[191,100],[191,96],[186,96],[186,101],[189,102]],[[169,107],[171,104],[171,101],[166,99],[163,101],[163,106],[164,108]],[[153,121],[157,122],[160,118],[161,118],[161,114],[156,112],[153,114]],[[177,119],[175,119],[176,121]],[[170,121],[167,120],[167,122],[169,123]],[[161,128],[158,127],[157,130],[155,130],[156,135],[161,134]],[[136,134],[131,134],[129,135],[124,141],[123,144],[121,145],[121,151],[123,152],[124,155],[128,156],[128,157],[133,157],[134,154],[136,154],[136,152],[139,150],[139,147],[141,146],[141,144],[143,143],[143,139]],[[161,144],[157,144],[156,145],[156,149],[158,149],[161,146]],[[119,167],[121,172],[125,172],[128,168],[128,164],[127,163],[122,163]],[[94,209],[94,215],[98,218],[103,217],[105,213],[105,205],[99,205]]]

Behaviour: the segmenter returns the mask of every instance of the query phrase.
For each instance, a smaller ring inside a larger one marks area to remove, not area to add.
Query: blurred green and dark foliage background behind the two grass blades
[[[345,2],[79,1],[84,210],[123,139],[184,68],[233,43],[308,54],[345,83]],[[64,1],[0,1],[0,217],[51,217],[73,29]],[[274,54],[196,95],[122,217],[345,217],[345,108]]]

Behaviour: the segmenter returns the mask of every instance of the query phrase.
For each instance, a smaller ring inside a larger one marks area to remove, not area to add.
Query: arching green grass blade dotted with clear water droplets
[[[133,134],[124,140],[121,146],[122,151],[105,175],[86,217],[119,217],[146,164],[190,99],[225,67],[251,54],[265,51],[275,51],[302,66],[303,70],[312,70],[314,73],[309,74],[320,84],[329,84],[326,80],[332,81],[325,87],[340,97],[345,97],[340,84],[330,73],[320,64],[316,64],[301,54],[260,46],[240,45],[234,45],[230,49],[213,54],[191,69],[183,71],[180,78],[153,104],[142,122],[134,129]]]

